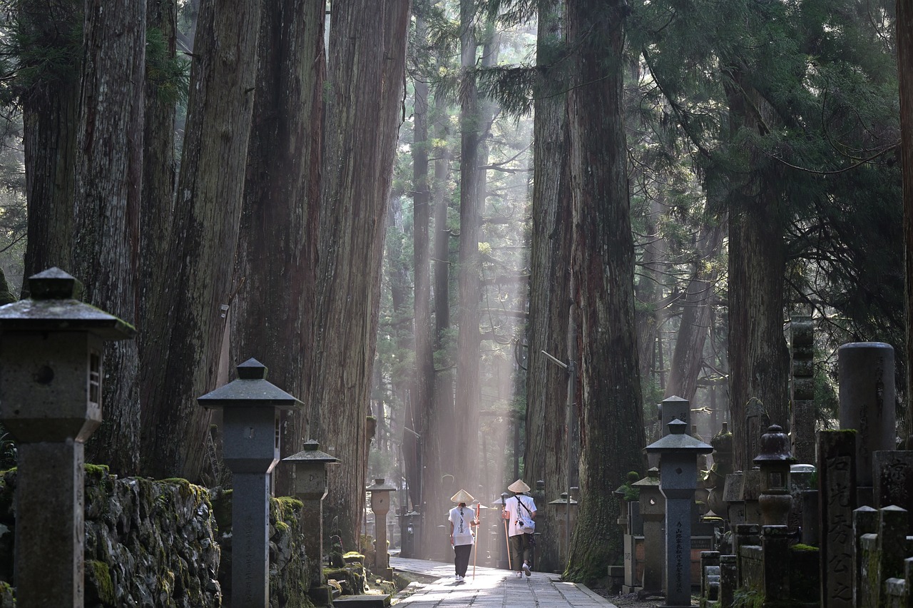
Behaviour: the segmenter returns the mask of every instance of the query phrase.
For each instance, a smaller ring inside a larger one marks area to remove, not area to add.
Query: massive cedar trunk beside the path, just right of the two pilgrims
[[[622,121],[625,8],[622,0],[568,2],[573,280],[582,361],[581,500],[565,579],[575,582],[604,578],[606,566],[622,558],[613,490],[628,471],[644,468]]]

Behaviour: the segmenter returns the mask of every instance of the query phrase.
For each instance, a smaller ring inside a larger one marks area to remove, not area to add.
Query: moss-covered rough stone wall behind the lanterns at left
[[[16,469],[0,477],[0,608],[12,608]],[[272,498],[270,608],[310,608],[301,503]],[[86,466],[87,608],[230,608],[231,491]]]

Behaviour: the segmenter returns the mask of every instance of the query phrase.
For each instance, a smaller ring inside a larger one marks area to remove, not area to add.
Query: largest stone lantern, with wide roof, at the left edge
[[[81,301],[59,268],[0,307],[0,422],[16,438],[16,605],[84,603],[84,442],[101,424],[104,342],[131,325]]]

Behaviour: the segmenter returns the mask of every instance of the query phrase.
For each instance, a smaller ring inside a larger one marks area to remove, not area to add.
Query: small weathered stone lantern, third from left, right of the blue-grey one
[[[310,439],[298,454],[282,459],[292,466],[292,492],[303,503],[301,531],[304,549],[310,557],[310,599],[321,606],[330,605],[332,593],[323,584],[323,498],[327,496],[327,466],[338,465],[339,458],[320,451]]]

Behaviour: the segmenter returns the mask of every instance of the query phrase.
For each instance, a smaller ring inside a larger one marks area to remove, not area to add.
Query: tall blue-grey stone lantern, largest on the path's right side
[[[687,426],[676,418],[668,424],[668,435],[644,448],[647,454],[659,454],[659,489],[666,497],[667,608],[691,605],[691,511],[698,456],[713,451],[713,446],[687,435]]]

